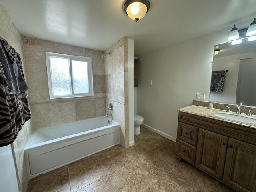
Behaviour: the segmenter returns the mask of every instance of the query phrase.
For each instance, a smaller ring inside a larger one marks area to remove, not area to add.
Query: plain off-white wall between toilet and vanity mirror
[[[214,45],[227,42],[231,28],[138,57],[137,113],[146,128],[176,141],[177,110],[191,105],[196,93],[209,99]]]

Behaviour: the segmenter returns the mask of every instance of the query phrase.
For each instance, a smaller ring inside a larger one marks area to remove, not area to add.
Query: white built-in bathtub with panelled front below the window
[[[120,143],[120,125],[105,116],[35,130],[24,148],[28,177]]]

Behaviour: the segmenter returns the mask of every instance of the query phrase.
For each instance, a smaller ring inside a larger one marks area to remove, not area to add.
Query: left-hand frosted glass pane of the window
[[[69,73],[69,60],[66,58],[50,57],[52,75],[52,94],[70,95],[71,83]]]

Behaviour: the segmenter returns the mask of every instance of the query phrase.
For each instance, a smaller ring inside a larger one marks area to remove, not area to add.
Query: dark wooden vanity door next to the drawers
[[[222,180],[228,137],[199,129],[195,165]]]

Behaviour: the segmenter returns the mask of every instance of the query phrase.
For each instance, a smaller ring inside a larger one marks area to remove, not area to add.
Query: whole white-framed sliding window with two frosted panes
[[[92,58],[46,52],[50,99],[93,96]]]

